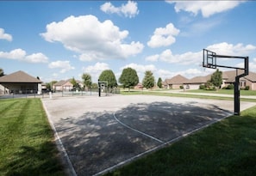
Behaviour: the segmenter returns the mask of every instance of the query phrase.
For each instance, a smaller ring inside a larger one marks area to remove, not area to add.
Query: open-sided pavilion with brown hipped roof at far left
[[[0,77],[0,94],[41,94],[41,83],[36,77],[19,70]]]

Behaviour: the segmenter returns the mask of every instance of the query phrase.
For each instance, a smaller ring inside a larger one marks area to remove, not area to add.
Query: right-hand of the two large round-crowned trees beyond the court
[[[119,77],[119,82],[122,83],[123,88],[128,88],[136,86],[139,83],[139,76],[136,70],[128,67],[122,70],[122,75]]]

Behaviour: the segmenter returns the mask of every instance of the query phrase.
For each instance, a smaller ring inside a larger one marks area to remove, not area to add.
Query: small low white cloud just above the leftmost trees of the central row
[[[109,70],[109,64],[97,62],[95,65],[83,67],[84,73],[89,73],[91,75],[92,82],[97,82],[97,79],[103,70]]]

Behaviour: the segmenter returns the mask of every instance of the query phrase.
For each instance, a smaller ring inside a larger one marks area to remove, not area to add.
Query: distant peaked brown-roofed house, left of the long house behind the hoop
[[[165,82],[163,82],[163,87],[180,88],[180,86],[184,86],[184,82],[188,82],[188,79],[184,76],[178,75],[172,77],[171,79],[165,79]]]

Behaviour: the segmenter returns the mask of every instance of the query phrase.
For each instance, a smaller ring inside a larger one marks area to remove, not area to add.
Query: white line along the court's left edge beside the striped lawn
[[[62,152],[62,153],[64,154],[63,156],[64,156],[64,158],[66,159],[66,162],[67,162],[67,164],[68,164],[69,173],[71,174],[71,176],[77,176],[77,173],[76,173],[76,171],[75,171],[75,169],[74,169],[74,167],[73,167],[73,165],[72,165],[72,161],[70,161],[70,158],[69,158],[69,156],[67,155],[66,149],[65,149],[65,147],[64,147],[64,145],[63,145],[63,143],[62,143],[62,141],[61,141],[61,139],[60,139],[60,137],[59,137],[59,135],[58,135],[58,132],[57,132],[57,130],[56,130],[54,124],[53,124],[53,120],[52,120],[52,118],[51,118],[51,115],[50,115],[50,113],[47,111],[47,108],[46,108],[45,104],[44,104],[43,102],[42,102],[42,104],[43,104],[43,106],[44,106],[45,111],[47,112],[47,118],[48,118],[48,120],[49,120],[49,123],[50,123],[52,129],[53,129],[54,137],[55,137],[55,140],[56,140],[56,144],[57,144],[57,146],[58,146],[58,149],[59,149],[60,152]]]

